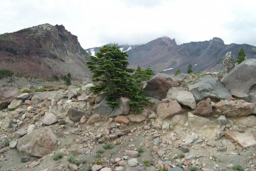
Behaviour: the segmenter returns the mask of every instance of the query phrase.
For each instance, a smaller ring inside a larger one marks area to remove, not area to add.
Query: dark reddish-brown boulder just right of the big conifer
[[[143,92],[146,96],[164,99],[168,90],[177,86],[179,86],[178,81],[174,81],[169,75],[159,73],[147,81],[143,88]]]

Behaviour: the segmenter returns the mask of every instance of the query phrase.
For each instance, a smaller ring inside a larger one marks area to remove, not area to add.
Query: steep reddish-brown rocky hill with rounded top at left
[[[39,25],[0,35],[0,68],[30,77],[84,77],[88,54],[64,26]]]

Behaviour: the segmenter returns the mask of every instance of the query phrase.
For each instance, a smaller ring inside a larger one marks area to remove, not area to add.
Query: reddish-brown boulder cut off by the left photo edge
[[[17,88],[0,89],[0,110],[6,108],[17,97],[18,93],[19,90]]]

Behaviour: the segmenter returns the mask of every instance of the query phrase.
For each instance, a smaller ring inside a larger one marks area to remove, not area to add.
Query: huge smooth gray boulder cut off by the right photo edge
[[[225,74],[221,81],[233,96],[256,103],[256,59],[247,59]]]

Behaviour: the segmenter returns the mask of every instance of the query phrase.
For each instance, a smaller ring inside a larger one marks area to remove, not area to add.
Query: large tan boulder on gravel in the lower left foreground
[[[43,127],[20,138],[16,147],[27,155],[44,157],[58,147],[57,140],[50,127]]]

